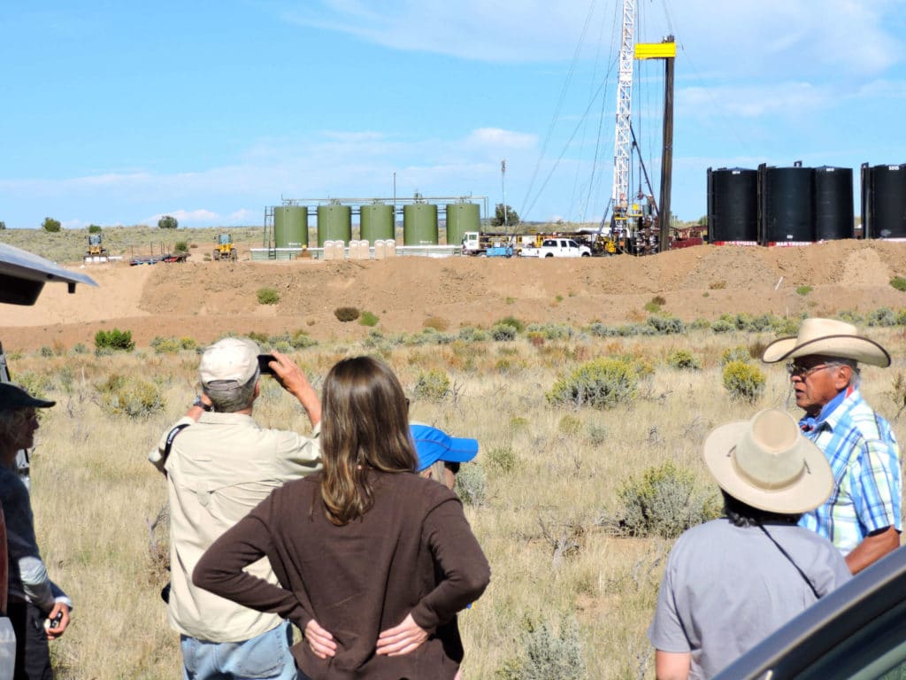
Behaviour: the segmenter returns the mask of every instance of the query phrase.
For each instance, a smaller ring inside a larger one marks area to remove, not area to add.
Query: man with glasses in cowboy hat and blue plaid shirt
[[[767,345],[763,361],[786,361],[800,425],[834,471],[834,491],[802,526],[830,539],[853,574],[900,546],[900,449],[859,391],[859,364],[885,368],[891,355],[843,321],[809,318],[799,335]]]

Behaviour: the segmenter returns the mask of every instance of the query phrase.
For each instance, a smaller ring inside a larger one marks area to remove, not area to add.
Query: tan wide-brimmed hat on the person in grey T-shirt
[[[758,510],[800,514],[834,489],[824,453],[779,409],[718,426],[705,439],[704,458],[721,489]]]

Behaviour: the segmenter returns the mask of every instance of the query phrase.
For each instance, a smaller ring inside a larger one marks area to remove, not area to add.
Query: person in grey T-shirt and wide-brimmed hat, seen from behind
[[[683,533],[648,637],[658,680],[708,678],[850,578],[839,550],[796,526],[834,488],[824,454],[768,409],[708,434],[726,517]]]

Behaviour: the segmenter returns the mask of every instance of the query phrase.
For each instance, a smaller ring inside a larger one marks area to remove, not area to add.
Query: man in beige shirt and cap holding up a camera
[[[230,337],[202,355],[202,395],[149,455],[167,476],[168,614],[170,627],[180,635],[185,680],[296,678],[288,623],[192,584],[192,570],[215,539],[275,488],[321,466],[317,393],[289,357],[275,352],[265,367],[302,405],[312,423],[311,436],[255,423],[252,408],[261,389],[258,345]],[[276,583],[266,559],[248,571]]]

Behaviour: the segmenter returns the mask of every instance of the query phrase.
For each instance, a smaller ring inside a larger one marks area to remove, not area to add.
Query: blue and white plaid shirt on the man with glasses
[[[799,525],[830,539],[846,555],[872,531],[901,530],[902,483],[900,449],[890,424],[858,390],[840,396],[813,422],[804,420],[805,436],[831,464],[834,491]]]

